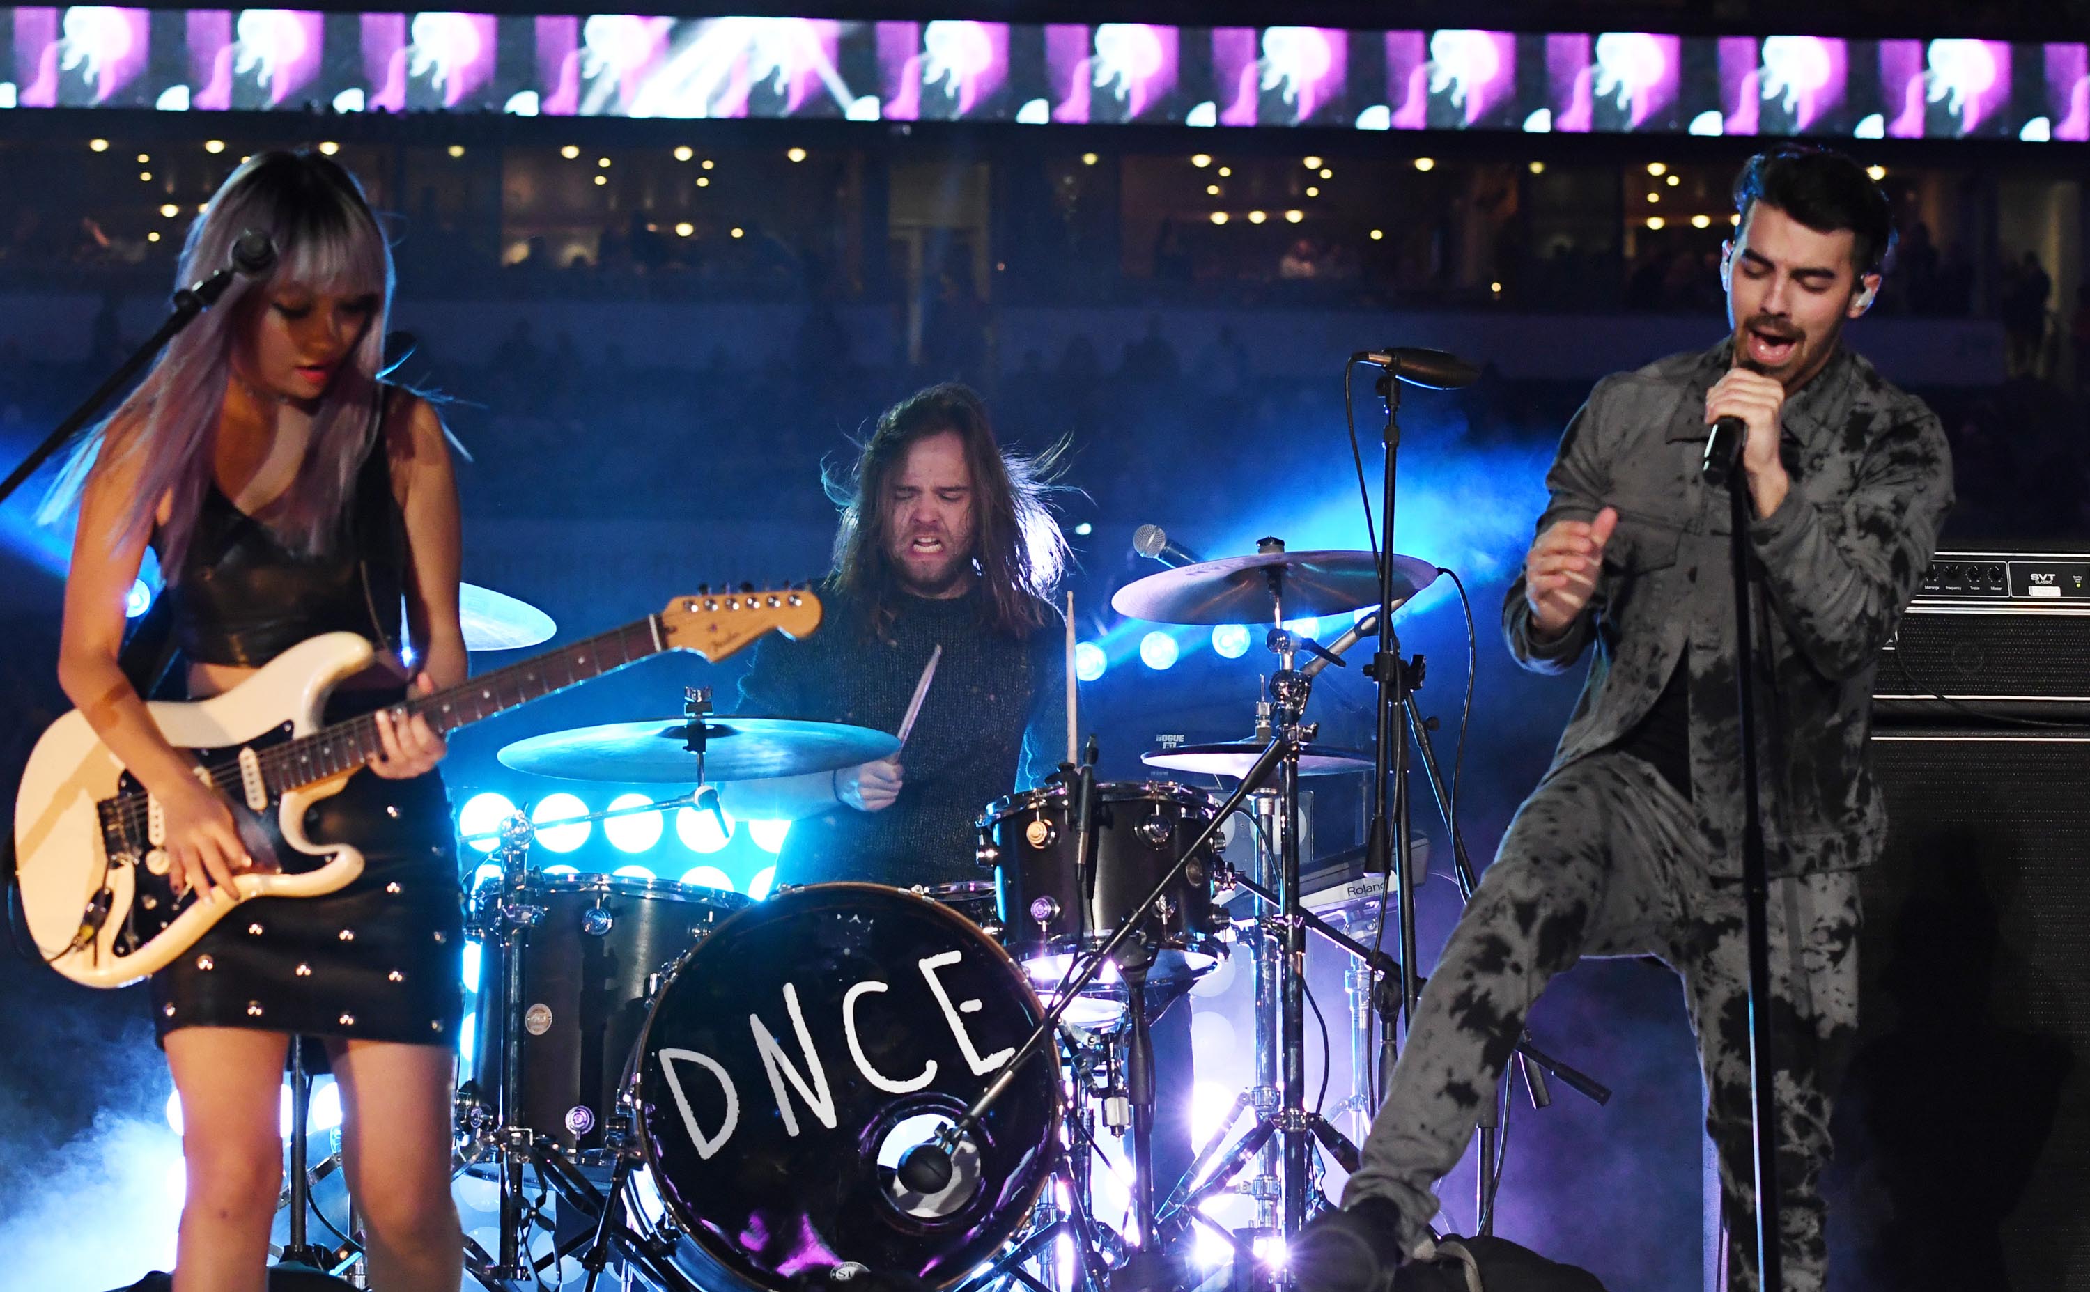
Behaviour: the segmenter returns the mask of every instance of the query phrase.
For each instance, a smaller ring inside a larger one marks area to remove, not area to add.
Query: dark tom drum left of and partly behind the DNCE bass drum
[[[748,899],[669,880],[533,874],[520,893],[485,889],[487,901],[541,912],[518,960],[520,1100],[502,1108],[502,1121],[594,1164],[604,1156],[604,1118],[617,1110],[656,974]],[[491,1104],[502,1091],[508,989],[497,937],[481,941],[479,970],[472,1081]]]

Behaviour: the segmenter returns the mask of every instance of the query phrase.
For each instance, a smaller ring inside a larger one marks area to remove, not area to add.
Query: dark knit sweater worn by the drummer
[[[980,623],[982,598],[903,596],[884,640],[865,608],[821,592],[819,631],[769,636],[740,679],[738,713],[813,717],[899,732],[930,652],[936,682],[899,761],[905,784],[884,811],[840,807],[792,824],[780,884],[872,880],[949,884],[993,878],[974,861],[974,822],[991,801],[1037,784],[1066,757],[1064,627],[1026,640]]]

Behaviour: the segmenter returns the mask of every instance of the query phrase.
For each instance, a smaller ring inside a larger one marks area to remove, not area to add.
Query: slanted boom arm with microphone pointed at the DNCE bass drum
[[[1058,993],[1053,995],[1051,1006],[1045,1010],[1045,1016],[1039,1018],[1035,1029],[1030,1029],[1030,1035],[1024,1039],[1024,1043],[1016,1047],[1016,1054],[1012,1054],[1001,1064],[1001,1068],[989,1081],[980,1098],[974,1100],[972,1106],[966,1108],[961,1114],[957,1114],[957,1118],[953,1118],[940,1131],[936,1131],[934,1139],[909,1148],[907,1154],[901,1158],[899,1173],[901,1179],[907,1183],[907,1187],[932,1194],[949,1183],[953,1171],[951,1150],[957,1146],[957,1141],[963,1135],[968,1135],[974,1127],[978,1127],[980,1116],[984,1116],[986,1110],[993,1108],[993,1104],[1016,1083],[1016,1072],[1022,1070],[1022,1066],[1028,1064],[1032,1058],[1037,1058],[1037,1054],[1045,1047],[1045,1043],[1058,1035],[1060,1016],[1066,1014],[1068,1006],[1074,1003],[1081,991],[1089,985],[1091,978],[1095,978],[1095,974],[1101,972],[1106,964],[1114,962],[1120,947],[1124,947],[1124,943],[1131,941],[1133,932],[1139,932],[1143,928],[1147,916],[1154,912],[1160,899],[1166,897],[1166,893],[1179,882],[1183,870],[1193,859],[1204,855],[1206,849],[1212,847],[1212,840],[1218,836],[1218,830],[1227,822],[1227,817],[1233,815],[1244,801],[1248,801],[1248,797],[1271,776],[1271,771],[1279,767],[1279,763],[1290,763],[1287,782],[1296,799],[1298,751],[1302,744],[1313,740],[1313,734],[1315,728],[1310,723],[1285,723],[1283,730],[1271,740],[1271,744],[1256,757],[1254,765],[1248,767],[1248,771],[1241,776],[1241,784],[1235,786],[1233,794],[1227,797],[1227,801],[1218,807],[1218,811],[1212,813],[1212,820],[1206,822],[1206,826],[1198,832],[1198,836],[1183,849],[1183,853],[1175,859],[1168,872],[1118,922],[1118,926],[1110,932],[1110,937],[1104,939],[1099,947],[1074,958],[1070,974],[1066,980],[1062,980]],[[1087,794],[1083,797],[1081,807],[1083,809],[1087,807]],[[1083,815],[1085,815],[1083,826],[1089,828],[1087,832],[1093,832],[1093,820],[1087,820],[1089,813]],[[1076,857],[1083,857],[1081,851],[1083,847],[1085,845],[1076,845],[1078,849]],[[1296,849],[1292,861],[1294,866],[1298,861]],[[1296,882],[1294,882],[1294,897],[1296,897]],[[1143,1246],[1154,1246],[1152,1227],[1143,1229],[1139,1238]]]

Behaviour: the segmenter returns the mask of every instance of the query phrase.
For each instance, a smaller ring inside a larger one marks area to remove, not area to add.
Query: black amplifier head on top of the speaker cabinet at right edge
[[[1881,652],[1873,719],[2090,725],[2090,554],[1940,552]]]

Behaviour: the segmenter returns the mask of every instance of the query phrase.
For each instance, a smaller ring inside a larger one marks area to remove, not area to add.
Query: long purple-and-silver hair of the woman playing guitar
[[[150,531],[159,500],[161,569],[182,569],[182,552],[211,483],[211,437],[232,378],[232,353],[272,295],[284,286],[376,297],[355,349],[320,395],[311,443],[272,527],[293,548],[316,552],[339,535],[345,498],[370,445],[380,397],[385,318],[391,312],[391,247],[355,178],[316,153],[257,153],[217,188],[188,230],[176,282],[207,278],[232,263],[232,243],[259,230],[276,245],[265,278],[238,278],[146,372],[138,389],[73,454],[44,502],[44,518],[73,506],[90,470],[134,468],[136,491],[111,539]]]

